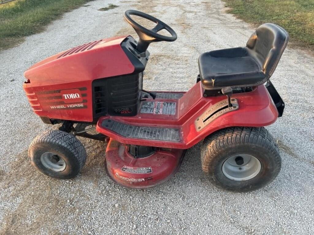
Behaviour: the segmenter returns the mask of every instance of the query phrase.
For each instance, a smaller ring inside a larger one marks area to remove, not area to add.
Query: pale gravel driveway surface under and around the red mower
[[[109,3],[119,7],[97,10]],[[114,184],[104,168],[105,146],[93,140],[81,139],[89,158],[73,180],[50,179],[30,166],[28,145],[51,127],[33,114],[23,72],[75,45],[135,36],[123,20],[127,9],[150,13],[178,34],[173,43],[151,44],[147,90],[187,91],[201,53],[243,46],[253,32],[224,13],[221,1],[98,0],[0,52],[0,234],[314,234],[314,59],[295,49],[285,50],[272,76],[286,107],[267,128],[283,162],[277,179],[261,190],[232,193],[210,184],[201,171],[199,145],[187,151],[175,177],[149,190]]]

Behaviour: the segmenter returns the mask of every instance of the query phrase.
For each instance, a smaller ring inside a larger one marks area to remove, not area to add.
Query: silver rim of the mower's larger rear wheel
[[[261,162],[249,154],[229,157],[222,165],[222,172],[230,180],[251,180],[261,171]]]

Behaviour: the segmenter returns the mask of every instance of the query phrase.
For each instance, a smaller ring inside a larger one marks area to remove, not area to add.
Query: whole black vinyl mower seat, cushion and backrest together
[[[257,86],[266,82],[277,67],[289,34],[275,24],[262,24],[246,47],[205,52],[198,59],[203,87]]]

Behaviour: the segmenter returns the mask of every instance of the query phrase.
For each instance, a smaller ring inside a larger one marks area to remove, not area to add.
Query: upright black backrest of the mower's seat
[[[262,66],[263,72],[272,76],[284,49],[287,46],[289,34],[276,24],[262,24],[252,34],[246,43],[248,52]]]

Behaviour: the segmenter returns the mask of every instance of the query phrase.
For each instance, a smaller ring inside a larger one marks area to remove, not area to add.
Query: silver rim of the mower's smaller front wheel
[[[55,172],[60,172],[67,166],[62,157],[51,152],[41,154],[40,160],[44,167]]]

